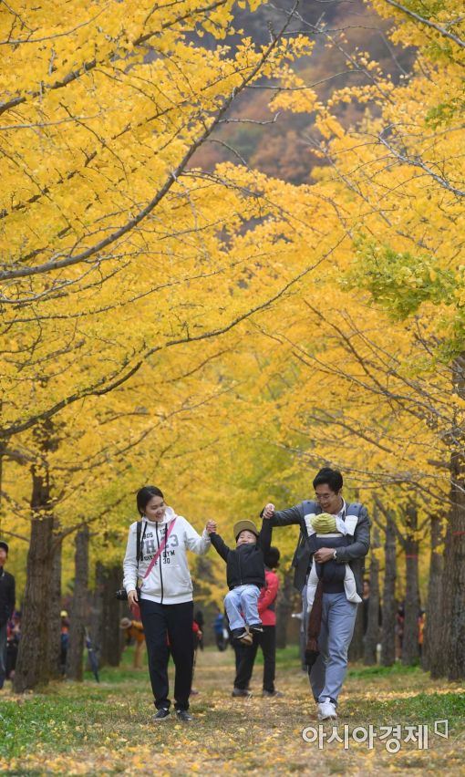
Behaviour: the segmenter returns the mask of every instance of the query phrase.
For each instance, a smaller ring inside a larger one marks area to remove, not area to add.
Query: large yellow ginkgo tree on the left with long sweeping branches
[[[47,629],[47,585],[35,584],[47,579],[53,528],[58,519],[60,531],[79,525],[59,505],[80,492],[88,461],[97,479],[98,461],[122,455],[106,439],[98,398],[151,358],[156,400],[169,348],[228,332],[313,262],[294,254],[276,272],[278,211],[263,181],[247,187],[233,167],[205,179],[192,167],[243,89],[263,76],[292,79],[290,62],[311,48],[284,26],[267,46],[243,39],[232,53],[220,43],[233,33],[232,7],[14,2],[0,12],[1,452],[4,505],[21,502],[17,486],[32,477],[25,644],[30,613]],[[216,47],[202,47],[204,31]],[[138,396],[136,407],[153,400]],[[165,420],[189,407],[189,395],[167,404]],[[131,420],[128,448],[149,433],[127,406],[109,412]],[[64,489],[60,472],[71,468],[74,485],[70,478]],[[37,666],[32,643],[31,651]]]

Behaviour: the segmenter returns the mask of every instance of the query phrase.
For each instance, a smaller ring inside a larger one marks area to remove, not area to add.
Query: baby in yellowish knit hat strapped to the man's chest
[[[319,548],[335,548],[346,546],[346,534],[348,534],[346,523],[342,518],[331,515],[330,513],[320,513],[314,515],[308,527],[308,542],[315,553]],[[318,581],[322,580],[324,590],[335,592],[344,584],[344,591],[349,602],[361,602],[360,596],[356,593],[356,578],[348,564],[337,564],[336,560],[330,559],[325,564],[317,564],[315,558],[312,561],[310,574],[307,583],[307,602],[310,611],[314,600]]]

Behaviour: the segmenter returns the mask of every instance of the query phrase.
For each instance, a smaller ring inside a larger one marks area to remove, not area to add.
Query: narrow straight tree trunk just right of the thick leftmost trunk
[[[82,681],[84,637],[88,610],[88,526],[76,535],[73,604],[67,648],[67,678]]]

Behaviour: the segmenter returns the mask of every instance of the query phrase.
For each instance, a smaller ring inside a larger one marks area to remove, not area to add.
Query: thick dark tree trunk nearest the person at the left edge
[[[50,569],[53,565],[53,517],[35,518],[27,554],[26,590],[21,618],[21,639],[14,689],[22,693],[49,679]]]

